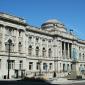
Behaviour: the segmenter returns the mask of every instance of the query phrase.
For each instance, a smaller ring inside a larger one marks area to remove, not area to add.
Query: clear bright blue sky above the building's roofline
[[[85,0],[0,0],[0,12],[24,18],[36,27],[57,19],[85,40]]]

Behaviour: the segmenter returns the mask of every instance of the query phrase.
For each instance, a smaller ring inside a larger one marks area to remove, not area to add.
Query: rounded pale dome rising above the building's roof
[[[41,25],[43,30],[59,30],[66,32],[65,26],[62,22],[56,19],[50,19]]]

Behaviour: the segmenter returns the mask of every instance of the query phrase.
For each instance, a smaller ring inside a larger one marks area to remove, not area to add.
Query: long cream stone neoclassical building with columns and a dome
[[[0,13],[0,78],[7,78],[8,69],[10,78],[39,74],[53,78],[65,77],[74,68],[84,74],[85,41],[62,22],[52,19],[37,28],[20,17]]]

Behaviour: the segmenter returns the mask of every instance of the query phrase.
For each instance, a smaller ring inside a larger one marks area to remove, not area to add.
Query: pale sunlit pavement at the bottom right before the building
[[[55,80],[48,80],[51,84],[72,84],[72,83],[84,83],[85,80],[67,80],[65,78],[59,78]]]

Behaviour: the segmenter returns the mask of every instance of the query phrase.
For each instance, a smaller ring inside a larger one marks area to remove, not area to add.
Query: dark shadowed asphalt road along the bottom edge
[[[72,84],[50,84],[43,81],[0,81],[0,85],[85,85],[85,83],[72,83]]]

